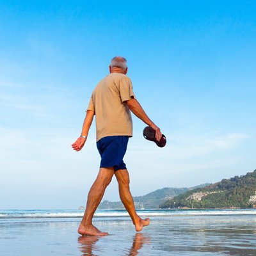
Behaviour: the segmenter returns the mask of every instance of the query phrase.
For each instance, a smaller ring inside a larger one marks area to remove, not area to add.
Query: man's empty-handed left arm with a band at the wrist
[[[81,132],[81,136],[86,136],[86,138],[82,138],[82,137],[77,138],[76,142],[72,144],[72,148],[74,150],[79,151],[84,147],[84,143],[87,139],[89,129],[92,125],[93,116],[94,116],[94,112],[92,110],[88,110],[84,118],[83,129]]]

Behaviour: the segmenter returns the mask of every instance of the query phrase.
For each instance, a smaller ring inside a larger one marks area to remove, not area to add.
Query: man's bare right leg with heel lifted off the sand
[[[129,187],[129,173],[126,169],[117,170],[115,172],[115,176],[118,181],[119,195],[122,200],[122,203],[124,204],[124,207],[129,213],[129,215],[131,216],[136,231],[141,231],[144,226],[149,225],[149,218],[142,220],[135,210],[133,198]]]

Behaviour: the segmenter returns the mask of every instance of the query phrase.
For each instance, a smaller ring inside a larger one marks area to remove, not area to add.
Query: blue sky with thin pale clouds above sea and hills
[[[0,2],[0,209],[84,205],[100,157],[80,135],[113,56],[168,143],[135,116],[125,163],[134,196],[256,168],[255,1]],[[116,181],[106,200],[118,200]]]

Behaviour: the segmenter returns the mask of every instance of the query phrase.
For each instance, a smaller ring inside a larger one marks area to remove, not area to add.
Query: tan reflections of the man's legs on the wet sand
[[[97,256],[100,253],[100,248],[97,247],[97,241],[102,238],[102,236],[80,236],[78,237],[79,249],[81,251],[81,256],[90,255]],[[132,246],[127,252],[127,256],[139,255],[139,250],[143,247],[143,244],[150,244],[150,237],[144,236],[142,233],[137,233],[132,241]]]

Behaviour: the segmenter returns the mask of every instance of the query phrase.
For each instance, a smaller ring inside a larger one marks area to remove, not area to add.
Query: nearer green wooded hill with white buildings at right
[[[204,188],[175,196],[160,208],[248,208],[256,207],[256,170],[246,175],[223,179]]]

